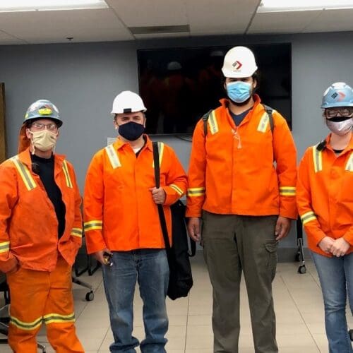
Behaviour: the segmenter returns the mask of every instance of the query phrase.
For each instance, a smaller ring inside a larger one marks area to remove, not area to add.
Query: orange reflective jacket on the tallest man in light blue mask
[[[281,215],[296,219],[296,149],[285,119],[273,110],[273,132],[258,95],[239,126],[228,101],[193,132],[187,217],[201,210],[221,215]],[[274,163],[275,162],[275,163]]]

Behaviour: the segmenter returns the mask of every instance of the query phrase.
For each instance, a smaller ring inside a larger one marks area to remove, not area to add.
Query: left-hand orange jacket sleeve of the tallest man
[[[205,201],[206,150],[203,120],[196,124],[189,163],[189,186],[186,193],[186,217],[201,217]]]

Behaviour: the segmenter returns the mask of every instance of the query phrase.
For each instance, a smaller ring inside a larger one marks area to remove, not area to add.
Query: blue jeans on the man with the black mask
[[[114,343],[110,352],[165,353],[168,317],[167,296],[169,267],[164,249],[114,251],[112,266],[103,266],[105,295],[109,305]],[[133,337],[133,294],[136,281],[143,300],[145,339]]]

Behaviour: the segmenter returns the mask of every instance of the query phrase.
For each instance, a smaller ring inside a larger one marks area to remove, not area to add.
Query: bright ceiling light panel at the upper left
[[[103,0],[1,0],[0,12],[59,11],[107,8]]]

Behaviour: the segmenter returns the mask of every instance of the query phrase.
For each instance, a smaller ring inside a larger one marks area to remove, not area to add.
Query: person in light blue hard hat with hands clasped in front
[[[330,353],[352,353],[346,301],[353,314],[353,89],[330,85],[323,117],[331,133],[306,150],[299,165],[297,205],[318,271]]]

